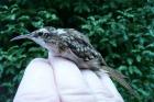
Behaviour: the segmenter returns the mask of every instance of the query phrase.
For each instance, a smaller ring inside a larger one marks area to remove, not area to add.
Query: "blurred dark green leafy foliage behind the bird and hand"
[[[0,102],[12,102],[25,66],[47,56],[31,41],[10,39],[43,26],[84,32],[141,102],[154,102],[154,0],[0,0]],[[117,87],[125,102],[139,102]]]

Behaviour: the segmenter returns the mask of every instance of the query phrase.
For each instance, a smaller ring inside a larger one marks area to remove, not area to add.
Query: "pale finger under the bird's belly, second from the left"
[[[62,102],[96,102],[80,70],[66,59],[52,61]]]

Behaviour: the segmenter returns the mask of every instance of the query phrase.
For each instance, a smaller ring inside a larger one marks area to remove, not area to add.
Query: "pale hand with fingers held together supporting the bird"
[[[79,70],[62,58],[35,58],[26,67],[13,102],[123,102],[107,73]]]

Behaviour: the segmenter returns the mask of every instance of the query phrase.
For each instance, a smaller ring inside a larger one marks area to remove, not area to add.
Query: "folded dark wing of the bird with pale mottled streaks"
[[[68,48],[79,58],[88,61],[97,58],[98,53],[85,39],[74,36],[74,34],[62,35],[63,41],[67,43]]]

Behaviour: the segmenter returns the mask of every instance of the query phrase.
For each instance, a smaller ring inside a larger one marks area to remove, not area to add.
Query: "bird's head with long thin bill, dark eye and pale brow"
[[[53,35],[56,35],[56,29],[55,27],[43,27],[38,29],[32,33],[25,34],[25,35],[19,35],[11,41],[22,39],[22,38],[29,38],[41,45],[42,47],[46,47],[46,41],[51,38]]]

